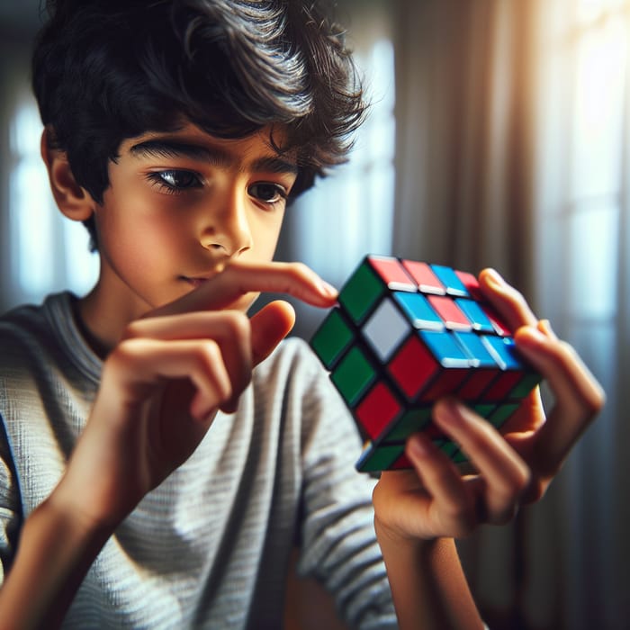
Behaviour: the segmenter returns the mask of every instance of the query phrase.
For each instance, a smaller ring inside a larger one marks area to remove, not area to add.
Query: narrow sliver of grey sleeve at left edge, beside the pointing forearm
[[[0,414],[0,584],[13,563],[22,526],[20,493],[4,419]]]

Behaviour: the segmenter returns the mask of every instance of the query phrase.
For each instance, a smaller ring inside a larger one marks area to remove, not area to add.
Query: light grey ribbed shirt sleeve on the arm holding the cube
[[[298,571],[321,581],[352,627],[395,628],[392,593],[374,533],[374,479],[357,473],[355,422],[308,348],[302,365],[302,528]]]

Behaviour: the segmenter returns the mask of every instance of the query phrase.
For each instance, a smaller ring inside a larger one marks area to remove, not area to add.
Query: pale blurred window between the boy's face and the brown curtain
[[[370,103],[367,118],[347,164],[320,180],[287,212],[276,256],[301,260],[338,288],[366,254],[392,253],[394,49],[386,13],[377,4],[372,8],[373,14],[357,14],[350,28],[361,35],[355,59]],[[298,314],[293,332],[309,338],[324,313],[292,302]]]

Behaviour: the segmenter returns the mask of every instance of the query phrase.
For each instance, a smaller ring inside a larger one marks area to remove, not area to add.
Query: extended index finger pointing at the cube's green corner
[[[287,293],[311,306],[329,307],[338,292],[302,263],[251,263],[235,261],[201,287],[153,311],[175,315],[190,311],[229,308],[247,293]]]

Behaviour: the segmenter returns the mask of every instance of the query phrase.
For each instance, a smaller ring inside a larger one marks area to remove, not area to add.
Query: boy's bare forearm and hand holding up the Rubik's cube
[[[374,491],[376,532],[403,629],[481,626],[449,539],[484,523],[505,524],[519,505],[539,500],[604,403],[572,347],[536,320],[518,292],[492,272],[482,273],[480,284],[556,401],[545,418],[533,392],[502,436],[458,401],[438,401],[433,419],[469,456],[473,472],[463,474],[415,435],[406,446],[414,470],[383,473]]]

